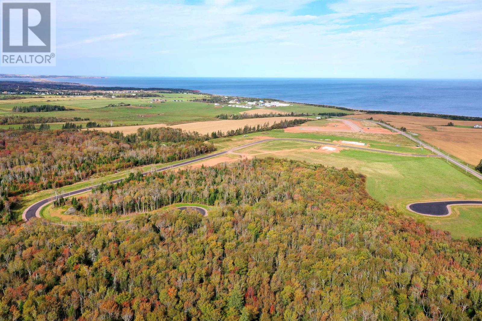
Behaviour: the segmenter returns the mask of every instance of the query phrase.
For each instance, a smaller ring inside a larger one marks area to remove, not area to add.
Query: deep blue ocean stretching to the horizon
[[[481,79],[106,77],[51,80],[108,87],[183,88],[365,110],[482,116]]]

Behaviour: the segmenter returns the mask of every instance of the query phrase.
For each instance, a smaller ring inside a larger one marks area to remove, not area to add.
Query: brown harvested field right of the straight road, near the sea
[[[382,119],[395,127],[405,127],[407,131],[419,134],[423,141],[472,165],[479,164],[482,159],[482,129],[444,126],[448,122],[461,126],[474,126],[482,122],[383,114],[350,115],[350,117],[362,119],[373,117],[375,120]]]

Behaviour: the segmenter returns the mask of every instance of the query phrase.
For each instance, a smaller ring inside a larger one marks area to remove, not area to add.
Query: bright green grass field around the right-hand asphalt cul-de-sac
[[[239,151],[260,154],[257,157],[288,157],[338,168],[348,167],[367,177],[367,191],[376,200],[396,208],[428,225],[453,232],[453,236],[482,236],[482,207],[459,207],[459,214],[450,219],[417,215],[406,205],[418,201],[480,199],[482,183],[465,175],[440,158],[398,156],[359,150],[343,150],[323,154],[309,150],[313,144],[276,141]],[[286,152],[283,152],[283,149]],[[295,150],[294,150],[295,149]],[[271,153],[269,153],[271,152]],[[476,215],[476,213],[479,215]],[[477,228],[475,228],[477,227]]]

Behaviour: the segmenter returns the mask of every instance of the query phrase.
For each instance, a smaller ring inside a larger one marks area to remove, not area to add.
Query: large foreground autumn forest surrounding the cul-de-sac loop
[[[97,212],[191,194],[214,207],[0,226],[0,318],[480,320],[481,242],[454,241],[364,186],[347,168],[272,158],[106,185],[87,196]]]

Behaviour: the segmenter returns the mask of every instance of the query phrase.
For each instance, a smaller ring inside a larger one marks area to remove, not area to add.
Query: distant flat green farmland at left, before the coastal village
[[[1,116],[54,116],[64,118],[89,118],[102,125],[113,122],[114,126],[123,125],[149,125],[165,123],[175,125],[186,122],[217,120],[215,116],[219,114],[237,114],[245,111],[245,109],[237,107],[228,107],[225,105],[214,106],[212,103],[191,102],[192,99],[206,97],[198,94],[166,94],[160,93],[162,98],[167,102],[154,103],[151,97],[145,98],[106,98],[106,97],[50,97],[42,96],[38,98],[20,99],[0,101]],[[174,102],[174,100],[182,100],[182,102]],[[126,103],[131,106],[115,106],[108,107],[109,104]],[[28,106],[32,104],[57,104],[66,106],[70,111],[61,112],[44,112],[44,113],[13,113],[14,106]],[[280,107],[287,111],[295,111],[298,113],[321,113],[321,112],[337,112],[339,110],[332,108],[323,108],[309,105],[294,104],[293,106]],[[256,109],[256,108],[254,108]],[[280,109],[280,110],[281,110]],[[273,110],[276,113],[276,110]],[[84,125],[86,121],[76,122],[78,125]],[[18,125],[2,125],[0,128],[19,128]],[[51,124],[51,129],[61,128],[62,124]]]

